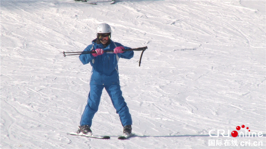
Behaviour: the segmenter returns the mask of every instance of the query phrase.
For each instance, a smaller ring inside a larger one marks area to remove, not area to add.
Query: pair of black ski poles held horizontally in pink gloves
[[[134,49],[124,49],[122,51],[142,51],[141,55],[140,55],[140,61],[139,61],[139,66],[140,66],[140,63],[141,63],[141,59],[142,59],[142,55],[143,55],[143,52],[148,49],[148,47],[140,47],[140,48],[134,48]],[[103,51],[103,52],[113,52],[113,51]],[[77,54],[68,54],[66,55],[66,53],[77,53]],[[81,55],[81,54],[92,54],[92,53],[96,53],[96,51],[86,51],[86,52],[64,52],[63,51],[63,55],[64,57],[66,56],[69,56],[69,55]]]

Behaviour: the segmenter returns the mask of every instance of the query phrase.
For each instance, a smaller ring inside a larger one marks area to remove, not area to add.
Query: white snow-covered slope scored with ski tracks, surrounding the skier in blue
[[[246,125],[266,136],[265,1],[1,0],[1,148],[213,148],[210,130]],[[121,89],[135,136],[103,91],[94,135],[77,130],[90,90],[91,66],[78,56],[108,23],[112,40],[142,57],[119,60]],[[217,146],[216,146],[217,147]]]

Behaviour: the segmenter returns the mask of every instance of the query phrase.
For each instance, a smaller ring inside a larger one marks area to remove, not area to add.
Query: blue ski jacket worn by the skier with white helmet
[[[92,41],[92,44],[88,45],[83,52],[93,51],[95,49],[103,49],[104,51],[112,51],[115,47],[123,46],[118,42],[113,42],[107,47],[103,47],[103,44],[96,44],[96,40]],[[131,49],[123,46],[125,49]],[[118,61],[119,58],[131,59],[134,56],[134,51],[125,51],[124,53],[114,54],[113,52],[104,52],[102,55],[94,57],[92,54],[81,54],[79,56],[82,64],[88,64],[92,66],[90,84],[93,85],[119,85],[119,73],[118,73]]]

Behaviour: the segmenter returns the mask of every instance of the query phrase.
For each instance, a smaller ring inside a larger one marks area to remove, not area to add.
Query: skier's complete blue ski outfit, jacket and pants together
[[[104,48],[103,44],[97,44],[96,40],[97,39],[94,39],[92,44],[88,45],[84,49],[84,52],[93,51],[95,49],[112,51],[115,47],[123,46],[122,44],[113,42],[110,39],[110,44]],[[129,47],[123,47],[125,49],[130,49]],[[80,120],[80,126],[89,125],[91,127],[93,116],[98,111],[103,88],[105,88],[108,95],[111,97],[111,101],[116,109],[116,113],[118,113],[120,117],[123,127],[126,125],[132,125],[132,118],[129,113],[129,109],[122,97],[122,91],[120,90],[117,63],[119,58],[131,59],[133,56],[133,51],[125,51],[124,53],[118,54],[114,54],[113,52],[104,52],[102,55],[98,55],[96,57],[92,54],[81,54],[79,56],[82,64],[90,63],[92,66],[90,92],[88,95],[87,105]]]

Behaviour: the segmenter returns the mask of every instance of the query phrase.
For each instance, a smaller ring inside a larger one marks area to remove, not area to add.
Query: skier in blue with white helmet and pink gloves
[[[120,43],[113,42],[111,38],[111,27],[102,23],[96,28],[97,38],[88,45],[83,52],[96,51],[93,54],[82,54],[79,56],[82,64],[92,66],[90,76],[90,92],[88,95],[87,105],[81,116],[80,126],[77,133],[92,135],[90,129],[94,114],[98,111],[100,97],[103,88],[107,91],[111,98],[112,104],[116,109],[116,113],[120,117],[122,126],[124,127],[124,135],[129,135],[132,131],[132,118],[129,108],[122,97],[122,91],[119,85],[118,60],[119,58],[131,59],[134,55],[133,51],[123,51],[130,49]],[[113,52],[104,52],[110,51]]]

